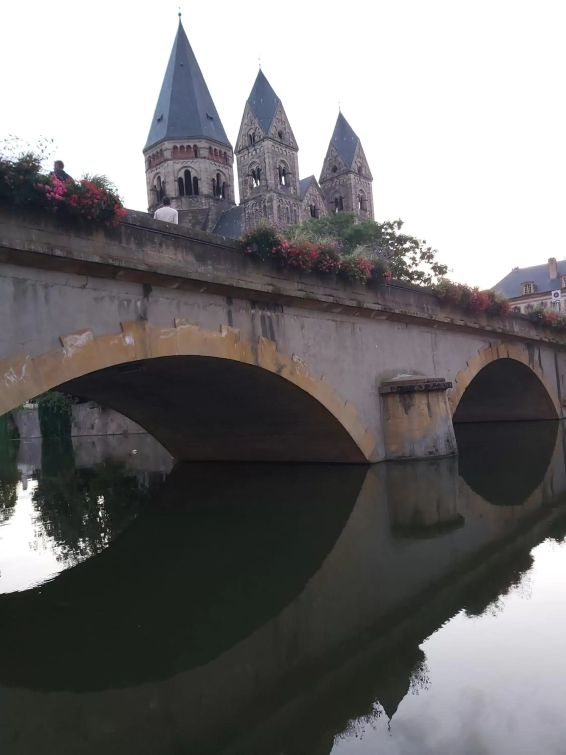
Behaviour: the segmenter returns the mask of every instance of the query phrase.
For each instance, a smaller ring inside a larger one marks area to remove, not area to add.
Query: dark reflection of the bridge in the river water
[[[457,440],[458,460],[370,468],[177,464],[108,547],[0,595],[2,751],[325,755],[393,716],[426,686],[423,640],[566,522],[560,423]]]

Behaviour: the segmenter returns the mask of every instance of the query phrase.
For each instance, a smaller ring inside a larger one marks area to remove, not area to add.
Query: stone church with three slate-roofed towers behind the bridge
[[[285,108],[261,69],[232,149],[179,18],[143,149],[149,212],[167,195],[181,225],[232,239],[260,217],[279,227],[330,212],[374,218],[368,161],[342,112],[318,181],[299,178],[298,152]]]

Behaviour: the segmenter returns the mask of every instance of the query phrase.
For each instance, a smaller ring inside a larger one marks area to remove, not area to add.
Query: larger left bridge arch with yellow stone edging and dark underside
[[[273,411],[274,427],[269,433],[264,432],[264,436],[253,436],[253,427],[247,427],[245,418],[242,421],[243,410],[239,415],[235,412],[232,424],[228,420],[223,423],[224,435],[228,427],[235,436],[232,444],[234,461],[378,461],[374,436],[361,425],[355,406],[340,399],[325,377],[315,377],[300,357],[279,352],[274,341],[260,336],[257,343],[252,344],[241,337],[238,329],[223,325],[220,331],[209,331],[199,328],[196,323],[179,319],[172,328],[152,326],[141,320],[122,322],[121,327],[119,333],[100,336],[95,336],[90,329],[78,331],[60,337],[61,347],[48,353],[33,358],[19,354],[2,360],[0,414],[46,390],[60,387],[122,411],[152,433],[177,458],[212,459],[210,448],[198,452],[195,451],[195,442],[187,446],[180,438],[186,434],[186,426],[180,419],[171,421],[168,427],[161,427],[167,423],[161,421],[165,418],[159,414],[154,389],[160,387],[161,396],[164,396],[168,389],[168,369],[171,365],[178,368],[182,362],[187,374],[195,374],[195,368],[200,369],[201,386],[208,385],[202,377],[203,370],[209,371],[211,379],[216,381],[214,390],[217,391],[213,394],[210,388],[209,399],[214,399],[214,395],[226,398],[232,388],[230,381],[239,381],[239,385],[248,387],[248,405],[255,408],[252,391],[257,385],[258,405],[266,411]],[[219,365],[222,369],[218,368]],[[124,405],[117,405],[115,393],[108,392],[108,386],[115,383],[117,375],[136,372],[143,372],[146,380],[144,397],[154,410],[149,421],[140,416],[140,404],[128,400],[126,392],[123,394]],[[183,374],[178,373],[177,369],[177,385],[180,385]],[[94,375],[103,378],[100,385],[106,386],[106,393],[97,390],[93,380],[89,383],[88,378]],[[188,381],[186,391],[190,390]],[[103,400],[106,395],[110,396],[109,401]],[[196,411],[201,397],[192,394],[189,399],[187,411],[191,408]],[[232,399],[232,405],[236,406],[238,394],[235,390],[232,390]],[[290,409],[294,408],[288,418],[285,402],[289,402]],[[170,408],[174,403],[172,397]],[[185,413],[185,419],[192,414],[190,411]],[[257,421],[256,428],[265,427],[265,415],[261,420]],[[293,424],[294,421],[297,424]],[[187,432],[190,434],[190,430]],[[251,436],[254,451],[246,455],[246,442]],[[187,448],[195,452],[187,451]],[[229,461],[229,457],[223,460]]]

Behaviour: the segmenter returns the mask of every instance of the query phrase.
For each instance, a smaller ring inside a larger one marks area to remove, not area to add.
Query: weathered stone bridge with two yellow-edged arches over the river
[[[563,415],[561,334],[282,272],[141,213],[106,229],[2,210],[0,316],[0,414],[60,387],[176,458],[451,455],[453,421]]]

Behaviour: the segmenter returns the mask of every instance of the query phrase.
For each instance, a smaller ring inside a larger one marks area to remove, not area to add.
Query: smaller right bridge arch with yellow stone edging
[[[454,423],[556,420],[561,405],[534,347],[490,344],[461,370],[448,394]]]

